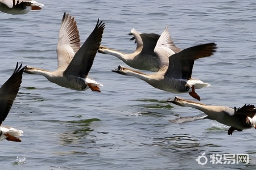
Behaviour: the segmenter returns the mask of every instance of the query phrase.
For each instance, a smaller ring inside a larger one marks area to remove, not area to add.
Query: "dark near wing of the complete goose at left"
[[[75,54],[71,63],[69,63],[67,69],[64,71],[65,74],[86,78],[93,65],[97,50],[100,48],[104,28],[105,23],[102,23],[102,21],[99,22],[98,19],[96,27]]]

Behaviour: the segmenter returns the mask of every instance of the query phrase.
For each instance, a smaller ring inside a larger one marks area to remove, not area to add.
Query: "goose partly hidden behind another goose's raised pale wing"
[[[125,54],[118,52],[117,50],[107,48],[106,46],[100,46],[98,52],[115,56],[134,69],[157,72],[162,66],[161,64],[163,64],[154,52],[160,35],[155,33],[140,33],[134,28],[131,29],[131,34],[134,36],[131,40],[135,39],[135,42],[137,43],[137,48],[133,53]],[[174,53],[180,52],[180,49],[175,46],[169,33],[168,43]]]

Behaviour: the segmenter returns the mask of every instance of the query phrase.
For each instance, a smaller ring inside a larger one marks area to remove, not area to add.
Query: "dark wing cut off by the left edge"
[[[24,67],[20,69],[21,67],[22,64],[18,67],[17,62],[13,75],[11,75],[0,88],[0,125],[2,125],[2,122],[7,117],[11,106],[13,105],[13,101],[18,94],[24,70]]]

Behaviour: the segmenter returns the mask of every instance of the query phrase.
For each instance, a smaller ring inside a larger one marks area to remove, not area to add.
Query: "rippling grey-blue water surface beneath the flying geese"
[[[201,102],[229,107],[256,104],[252,0],[39,2],[45,5],[41,11],[0,15],[1,84],[16,62],[56,70],[59,27],[63,13],[69,12],[77,20],[82,42],[100,18],[106,23],[102,45],[125,53],[135,49],[128,35],[133,27],[160,34],[169,25],[181,49],[216,42],[217,52],[193,67],[193,77],[212,85],[197,90]],[[201,112],[166,100],[192,97],[111,72],[118,65],[125,63],[97,54],[89,75],[104,84],[101,92],[73,91],[24,73],[3,123],[23,130],[23,141],[1,141],[1,169],[255,169],[255,129],[229,136],[229,127],[216,121],[172,124],[169,120]],[[204,152],[208,162],[199,165],[195,159]],[[213,164],[212,154],[249,154],[250,162]]]

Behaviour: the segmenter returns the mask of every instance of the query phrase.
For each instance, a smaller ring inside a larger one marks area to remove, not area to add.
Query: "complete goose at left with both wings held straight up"
[[[34,67],[26,67],[28,74],[40,74],[50,82],[73,90],[99,91],[102,84],[88,78],[97,50],[100,47],[105,23],[97,22],[93,32],[80,48],[80,37],[76,21],[69,14],[63,15],[57,43],[58,69],[47,71]]]

